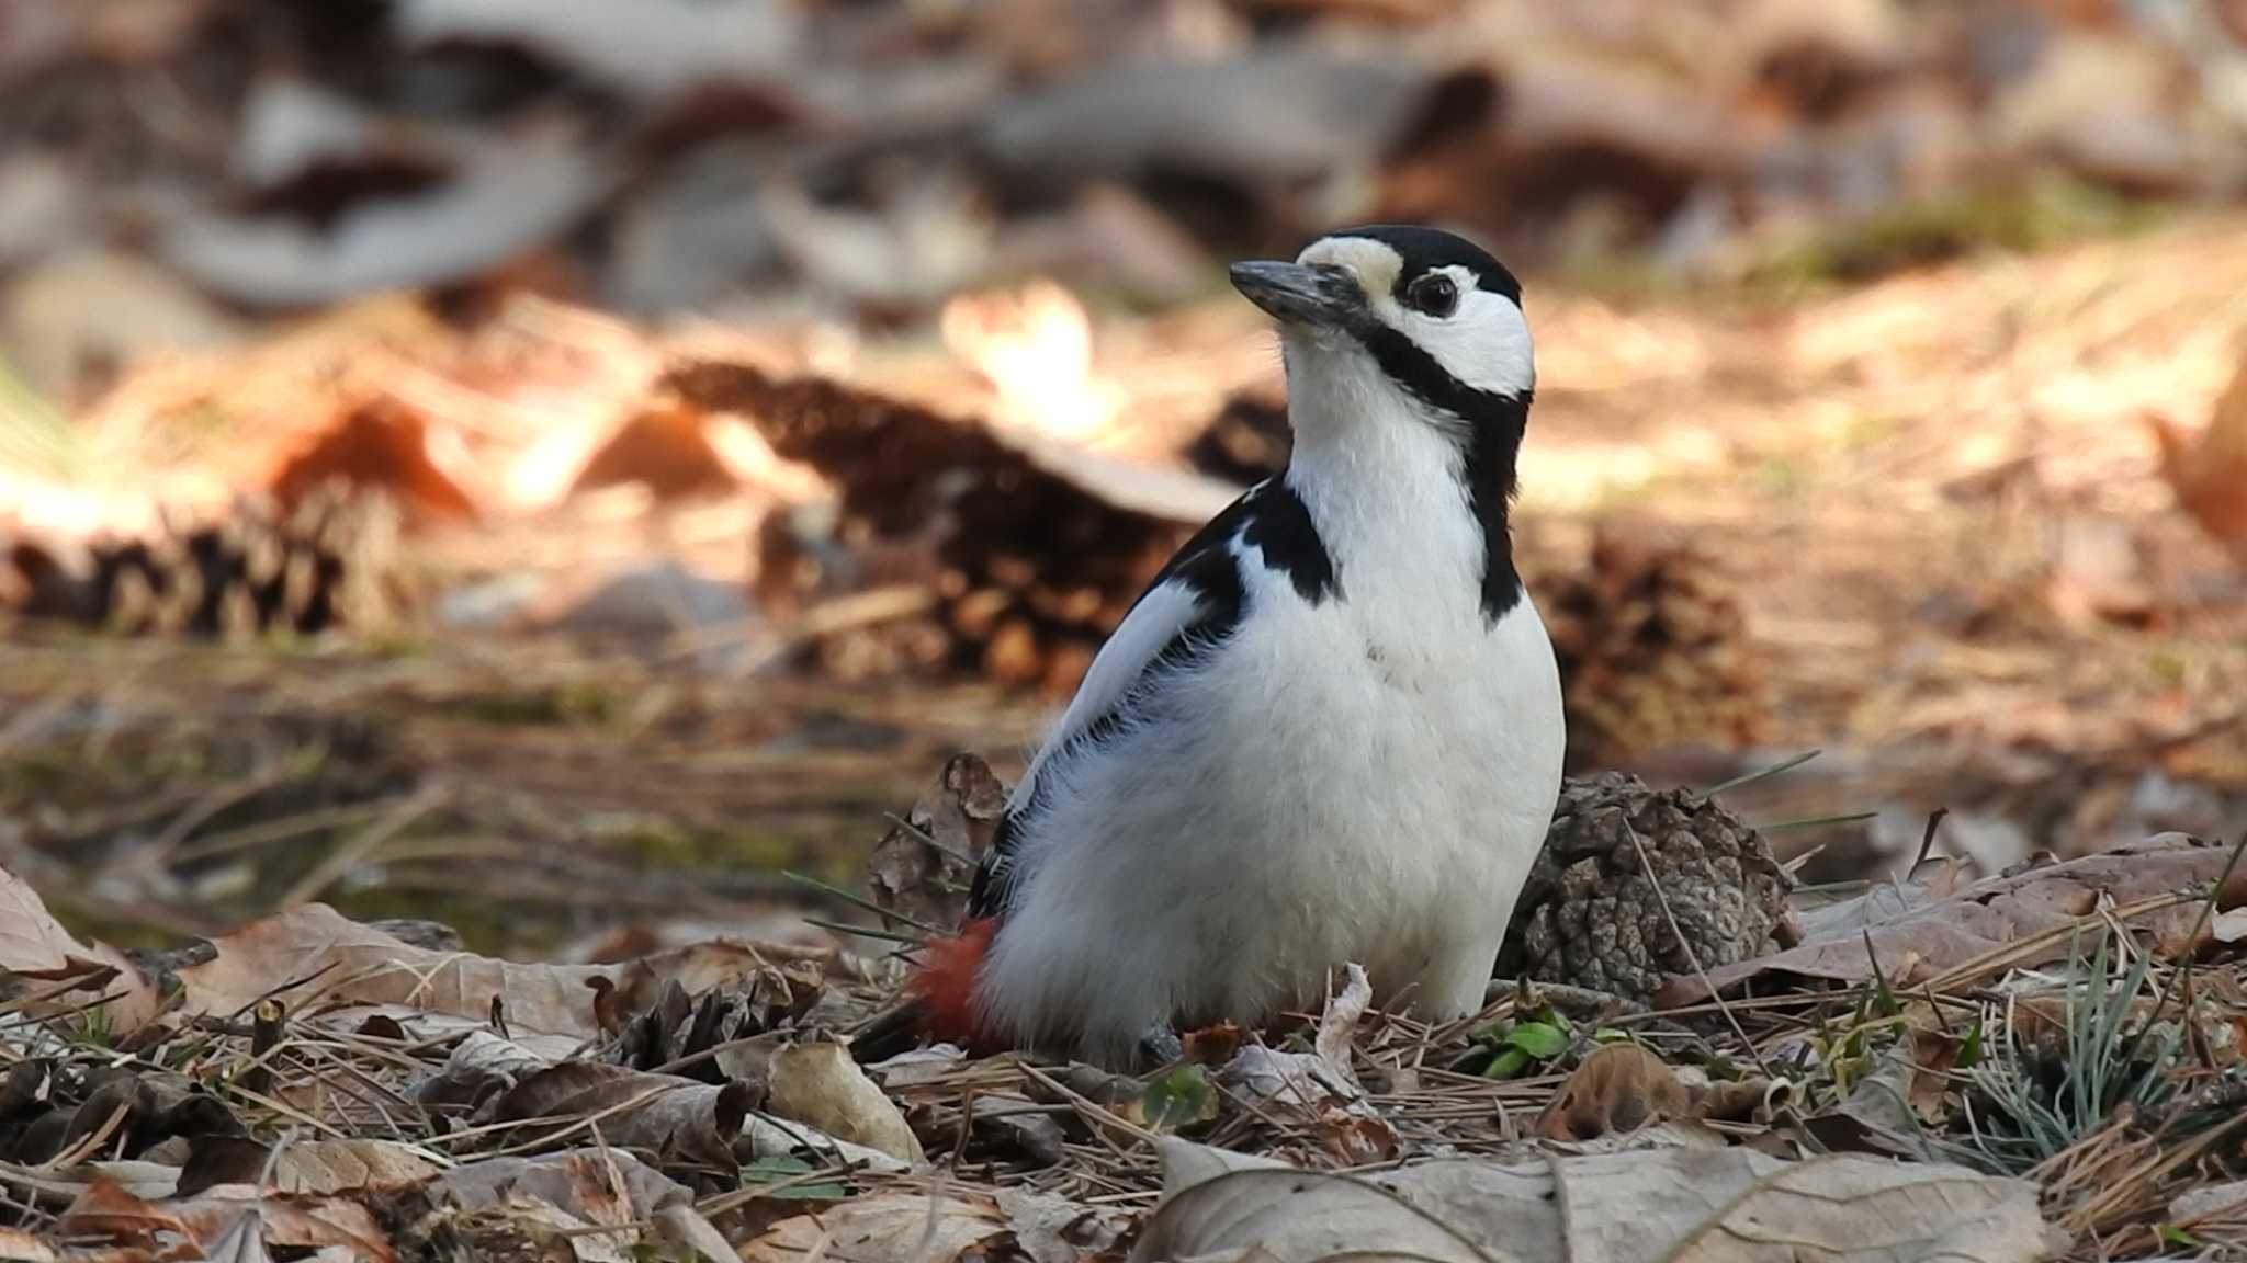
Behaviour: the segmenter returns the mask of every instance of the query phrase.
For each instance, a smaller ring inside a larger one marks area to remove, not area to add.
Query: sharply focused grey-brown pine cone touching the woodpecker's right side
[[[1647,998],[1694,962],[1771,951],[1791,888],[1762,834],[1708,798],[1622,773],[1568,778],[1499,975]]]

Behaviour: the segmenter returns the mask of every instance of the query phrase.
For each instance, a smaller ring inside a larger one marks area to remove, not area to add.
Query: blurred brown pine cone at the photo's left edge
[[[216,521],[92,544],[83,566],[36,542],[18,542],[9,562],[34,618],[126,636],[310,636],[395,614],[395,537],[386,497],[330,483],[290,510],[252,497]]]

